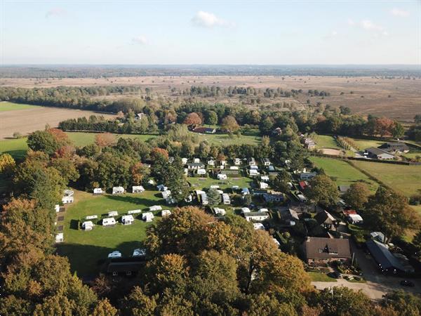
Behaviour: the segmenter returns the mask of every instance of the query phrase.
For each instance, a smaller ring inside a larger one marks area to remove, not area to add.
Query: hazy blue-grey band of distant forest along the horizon
[[[142,76],[378,76],[421,77],[416,65],[25,65],[0,67],[1,78],[100,78]]]

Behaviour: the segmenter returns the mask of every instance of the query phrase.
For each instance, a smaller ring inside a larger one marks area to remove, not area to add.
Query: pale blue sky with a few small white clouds
[[[421,0],[0,0],[0,63],[421,65]]]

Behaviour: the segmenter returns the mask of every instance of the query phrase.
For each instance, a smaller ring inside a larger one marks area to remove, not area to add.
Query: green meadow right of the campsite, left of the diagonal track
[[[338,185],[350,185],[356,181],[363,180],[372,192],[377,190],[378,185],[375,181],[370,180],[368,176],[347,162],[325,157],[310,157],[310,160],[317,167],[323,168],[326,174],[333,178]]]

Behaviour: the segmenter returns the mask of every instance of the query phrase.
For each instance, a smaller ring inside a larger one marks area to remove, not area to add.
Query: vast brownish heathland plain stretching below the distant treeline
[[[22,79],[2,78],[2,86],[25,88],[54,86],[116,86],[138,85],[152,88],[154,93],[170,98],[171,88],[185,89],[189,86],[253,86],[255,88],[309,89],[327,91],[330,96],[309,97],[302,93],[298,99],[278,98],[276,102],[288,102],[305,106],[321,102],[333,107],[345,105],[353,112],[387,116],[402,121],[412,121],[418,114],[421,103],[421,79],[380,79],[375,77],[319,77],[319,76],[180,76],[180,77],[110,77],[110,78],[64,78],[64,79]],[[171,87],[171,88],[170,88]],[[238,103],[238,98],[206,98],[209,102]]]

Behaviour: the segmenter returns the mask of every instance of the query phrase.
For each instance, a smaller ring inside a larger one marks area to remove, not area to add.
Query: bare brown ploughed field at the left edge
[[[12,137],[14,132],[26,135],[33,131],[44,129],[46,124],[56,127],[60,121],[65,119],[89,117],[92,114],[96,113],[57,107],[34,107],[27,110],[0,112],[0,139]],[[105,114],[105,116],[112,117],[110,114]]]

